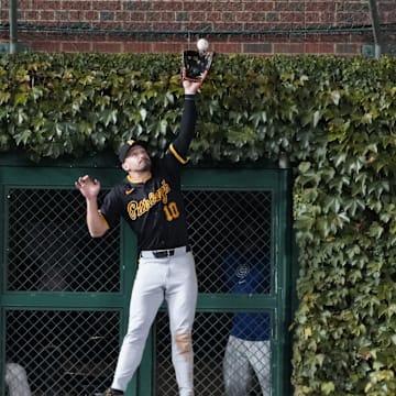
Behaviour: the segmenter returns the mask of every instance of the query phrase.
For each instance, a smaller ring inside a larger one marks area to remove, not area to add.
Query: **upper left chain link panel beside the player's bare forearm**
[[[79,191],[20,188],[7,198],[9,290],[119,292],[119,229],[90,238]]]

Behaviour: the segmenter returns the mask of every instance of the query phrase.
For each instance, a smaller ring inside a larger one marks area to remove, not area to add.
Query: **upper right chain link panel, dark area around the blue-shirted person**
[[[268,261],[272,196],[268,191],[186,191],[186,210],[200,293],[229,293],[223,262],[230,250],[249,245]],[[252,257],[248,257],[253,260]],[[263,274],[263,287],[271,285]],[[268,286],[265,287],[268,293]]]

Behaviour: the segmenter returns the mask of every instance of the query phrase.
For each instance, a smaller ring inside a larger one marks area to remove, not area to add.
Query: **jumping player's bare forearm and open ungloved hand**
[[[98,194],[100,182],[91,179],[88,175],[81,176],[75,183],[76,188],[86,198],[87,202],[87,226],[92,238],[102,237],[108,230],[108,226],[101,218],[98,208]]]

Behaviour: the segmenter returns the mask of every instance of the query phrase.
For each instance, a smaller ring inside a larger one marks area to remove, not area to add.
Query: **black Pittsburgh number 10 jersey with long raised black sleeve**
[[[124,218],[138,237],[138,249],[161,250],[188,244],[180,169],[195,134],[195,96],[185,96],[180,130],[162,158],[152,158],[151,177],[134,183],[128,175],[105,197],[100,213],[109,227]]]

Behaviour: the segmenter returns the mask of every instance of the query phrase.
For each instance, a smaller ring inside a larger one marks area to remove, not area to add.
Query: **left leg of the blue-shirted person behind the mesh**
[[[245,341],[230,336],[223,359],[226,396],[245,396],[252,378]]]

